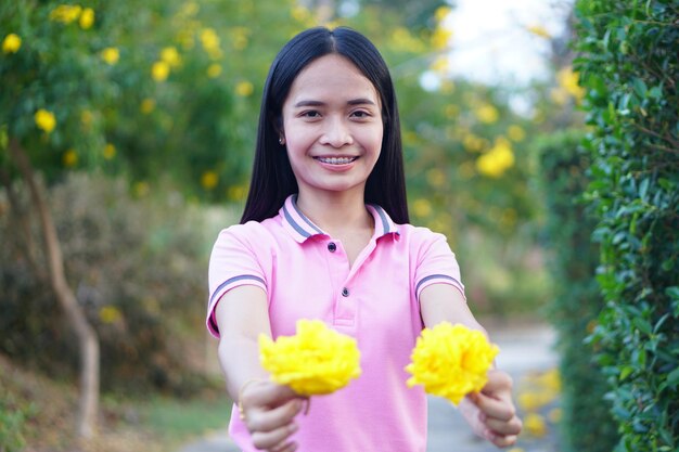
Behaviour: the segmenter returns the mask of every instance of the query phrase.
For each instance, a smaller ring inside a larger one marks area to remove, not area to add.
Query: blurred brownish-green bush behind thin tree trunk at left
[[[0,350],[53,376],[74,377],[77,345],[49,285],[25,258],[27,242],[5,203]],[[200,379],[188,364],[196,361],[187,359],[196,357],[188,347],[204,337],[200,307],[206,243],[214,240],[204,233],[203,210],[177,193],[134,198],[123,180],[78,173],[53,186],[49,203],[68,281],[101,339],[102,388],[191,390]],[[31,254],[41,263],[36,232]]]

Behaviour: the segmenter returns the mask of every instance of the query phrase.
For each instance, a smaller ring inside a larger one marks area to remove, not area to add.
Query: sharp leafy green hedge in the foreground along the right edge
[[[679,4],[579,0],[576,15],[606,300],[591,341],[622,435],[616,451],[677,451]]]

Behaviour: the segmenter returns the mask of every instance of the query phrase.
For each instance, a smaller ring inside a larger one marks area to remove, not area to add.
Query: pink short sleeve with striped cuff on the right
[[[420,294],[426,286],[437,283],[450,284],[465,297],[460,266],[446,236],[427,229],[422,229],[421,233],[422,241],[414,277],[415,297],[420,299]]]

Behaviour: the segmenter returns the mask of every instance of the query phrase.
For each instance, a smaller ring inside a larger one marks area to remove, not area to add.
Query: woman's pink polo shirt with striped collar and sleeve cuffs
[[[362,374],[312,398],[309,413],[296,418],[299,450],[424,452],[426,398],[420,387],[406,386],[403,367],[423,327],[422,289],[444,283],[464,293],[454,255],[444,235],[396,224],[369,205],[375,230],[349,268],[342,243],[306,218],[295,199],[290,196],[273,218],[219,234],[209,262],[209,332],[219,337],[214,312],[220,297],[247,284],[266,292],[274,338],[293,335],[299,319],[320,319],[355,337]],[[243,451],[256,451],[238,415],[229,432]]]

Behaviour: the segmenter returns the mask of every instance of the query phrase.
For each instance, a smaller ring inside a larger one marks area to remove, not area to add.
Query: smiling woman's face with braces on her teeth
[[[283,138],[299,194],[363,193],[382,147],[374,86],[347,59],[321,56],[302,70],[283,104]]]

